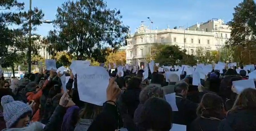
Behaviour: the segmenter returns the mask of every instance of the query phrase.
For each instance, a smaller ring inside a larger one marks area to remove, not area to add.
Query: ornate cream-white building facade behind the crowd
[[[221,19],[195,24],[187,29],[150,30],[140,25],[135,34],[130,34],[126,46],[126,63],[139,66],[146,64],[151,47],[155,44],[178,45],[187,54],[197,55],[200,50],[218,50],[230,38],[231,29]],[[151,34],[151,35],[150,35]]]

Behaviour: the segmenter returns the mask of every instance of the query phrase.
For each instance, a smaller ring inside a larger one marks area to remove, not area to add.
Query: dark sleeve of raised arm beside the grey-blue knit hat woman
[[[62,123],[63,116],[66,112],[66,108],[63,106],[57,106],[54,113],[50,117],[48,123],[43,128],[43,131],[56,131],[56,125]]]

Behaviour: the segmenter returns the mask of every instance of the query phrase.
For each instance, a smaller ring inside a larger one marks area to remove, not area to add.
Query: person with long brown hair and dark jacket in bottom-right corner
[[[236,90],[235,88],[233,90]],[[244,89],[218,127],[219,131],[255,131],[256,89]]]

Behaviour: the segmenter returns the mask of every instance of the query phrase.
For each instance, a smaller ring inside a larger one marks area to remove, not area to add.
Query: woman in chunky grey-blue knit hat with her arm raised
[[[35,122],[30,124],[29,115],[32,113],[31,105],[25,104],[21,101],[14,101],[12,96],[3,96],[1,104],[3,106],[3,118],[6,122],[7,129],[3,131],[13,131],[20,128],[22,131],[49,131],[59,123],[59,118],[64,116],[67,106],[74,106],[70,104],[68,94],[64,93],[59,102],[59,106],[56,107],[50,120],[46,125]]]

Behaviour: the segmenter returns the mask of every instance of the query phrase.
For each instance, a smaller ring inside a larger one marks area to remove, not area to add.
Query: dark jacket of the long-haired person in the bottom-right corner
[[[228,113],[218,131],[256,131],[256,110],[240,110]]]

